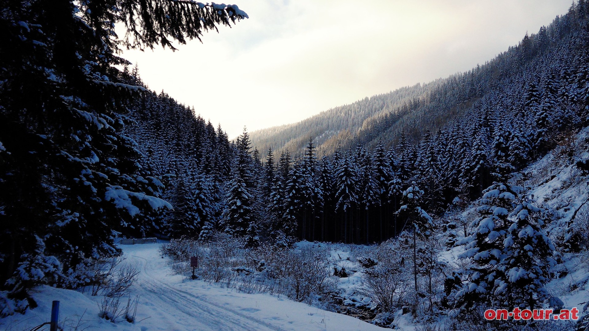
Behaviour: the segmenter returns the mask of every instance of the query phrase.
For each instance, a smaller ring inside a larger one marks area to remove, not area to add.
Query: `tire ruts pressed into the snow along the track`
[[[158,307],[158,310],[166,310],[168,313],[181,312],[186,316],[175,316],[180,320],[187,320],[186,326],[204,326],[211,330],[273,330],[284,331],[284,329],[257,319],[256,317],[247,316],[243,313],[228,307],[220,306],[206,301],[197,295],[176,289],[173,286],[154,277],[148,268],[149,261],[145,257],[130,255],[136,263],[141,260],[143,266],[138,268],[142,275],[139,277],[138,289],[145,293],[143,296],[150,298],[150,302],[160,301],[168,307]],[[155,299],[155,300],[153,300]],[[173,315],[170,314],[170,315]]]

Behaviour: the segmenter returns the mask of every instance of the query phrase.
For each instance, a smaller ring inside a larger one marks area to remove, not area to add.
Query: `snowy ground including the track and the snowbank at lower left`
[[[25,315],[0,319],[0,329],[30,330],[47,322],[52,300],[59,300],[64,330],[377,330],[378,326],[350,316],[326,312],[304,303],[269,294],[243,294],[201,280],[173,275],[160,244],[121,246],[124,263],[140,271],[131,288],[139,295],[135,323],[98,317],[99,297],[72,290],[40,287],[34,294],[39,307]],[[125,299],[126,302],[126,299]],[[46,327],[48,330],[48,327]]]

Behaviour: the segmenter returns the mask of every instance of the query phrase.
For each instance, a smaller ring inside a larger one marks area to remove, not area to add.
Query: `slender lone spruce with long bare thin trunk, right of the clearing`
[[[412,249],[413,249],[413,290],[415,290],[415,307],[413,307],[413,315],[417,313],[416,306],[418,304],[418,256],[417,256],[417,243],[418,239],[429,236],[434,227],[434,221],[428,213],[422,209],[422,196],[423,191],[419,189],[415,181],[411,183],[405,191],[403,191],[403,197],[401,198],[401,207],[397,214],[399,217],[405,219],[405,224],[408,224],[412,233]],[[404,227],[403,227],[404,228]]]

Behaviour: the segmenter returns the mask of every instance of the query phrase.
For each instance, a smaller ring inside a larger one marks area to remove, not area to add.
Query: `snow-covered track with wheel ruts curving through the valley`
[[[244,294],[174,276],[159,244],[121,246],[125,263],[140,271],[137,323],[147,330],[376,330],[350,316],[268,294]]]

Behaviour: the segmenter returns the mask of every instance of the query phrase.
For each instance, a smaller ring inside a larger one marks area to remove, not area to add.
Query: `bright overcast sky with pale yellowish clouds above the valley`
[[[201,0],[203,1],[203,0]],[[249,19],[178,47],[127,51],[151,90],[230,138],[484,64],[571,0],[235,0]]]

